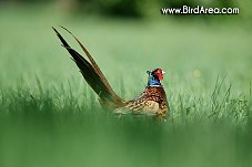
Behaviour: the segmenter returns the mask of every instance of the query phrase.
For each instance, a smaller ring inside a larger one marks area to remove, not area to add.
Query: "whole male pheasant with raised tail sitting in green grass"
[[[84,80],[98,94],[101,106],[113,109],[119,114],[133,113],[157,115],[159,117],[165,117],[170,112],[165,91],[160,82],[161,80],[163,80],[163,74],[165,73],[164,71],[162,71],[161,69],[147,71],[149,79],[148,85],[143,93],[131,101],[122,100],[114,93],[100,67],[98,66],[91,54],[88,52],[88,50],[82,45],[82,43],[68,29],[63,28],[79,43],[90,62],[81,54],[79,54],[75,50],[73,50],[54,28],[52,29],[60,39],[62,46],[71,54],[72,60],[80,69],[80,72],[83,75]]]

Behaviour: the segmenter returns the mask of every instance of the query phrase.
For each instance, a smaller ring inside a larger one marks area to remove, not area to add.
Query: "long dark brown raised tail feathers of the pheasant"
[[[54,32],[57,33],[58,38],[62,42],[62,45],[68,50],[68,52],[71,54],[73,61],[80,69],[84,80],[88,82],[88,84],[92,87],[92,90],[100,96],[100,98],[104,101],[109,101],[113,104],[114,107],[119,107],[123,105],[122,98],[120,98],[111,88],[110,84],[105,80],[104,75],[101,73],[99,66],[92,59],[92,56],[89,54],[87,49],[80,43],[80,41],[73,35],[73,38],[78,41],[78,43],[81,45],[82,50],[85,52],[87,56],[90,59],[90,64],[82,55],[80,55],[77,51],[71,49],[71,46],[67,43],[67,41],[62,38],[62,35],[54,29]],[[67,30],[67,29],[65,29]],[[68,30],[67,30],[68,31]],[[71,33],[69,31],[69,33]]]

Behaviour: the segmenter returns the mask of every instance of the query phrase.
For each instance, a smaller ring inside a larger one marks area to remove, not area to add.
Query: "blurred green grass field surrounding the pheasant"
[[[1,167],[252,164],[252,32],[243,22],[111,20],[30,7],[1,7],[0,20]],[[168,122],[101,109],[60,46],[58,24],[83,41],[124,98],[143,91],[147,70],[167,71]]]

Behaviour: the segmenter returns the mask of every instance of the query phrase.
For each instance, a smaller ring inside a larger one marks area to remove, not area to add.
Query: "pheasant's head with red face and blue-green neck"
[[[163,74],[165,73],[162,69],[147,71],[147,73],[149,74],[148,86],[162,86],[160,81],[163,80]]]

